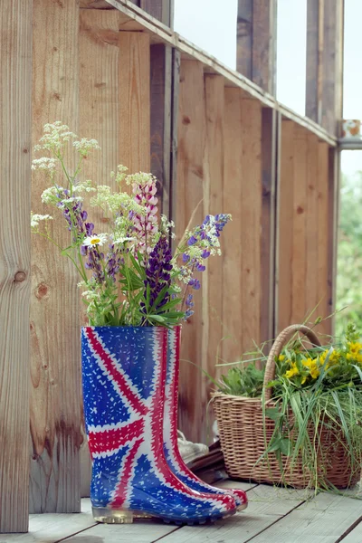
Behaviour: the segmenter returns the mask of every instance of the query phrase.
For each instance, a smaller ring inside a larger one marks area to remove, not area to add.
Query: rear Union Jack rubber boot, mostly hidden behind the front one
[[[190,489],[198,492],[208,492],[214,495],[232,495],[238,511],[248,506],[246,492],[234,489],[224,491],[201,481],[191,472],[183,461],[177,446],[177,405],[178,405],[178,378],[180,359],[181,327],[168,329],[167,338],[167,379],[164,414],[164,450],[167,463],[177,478]]]

